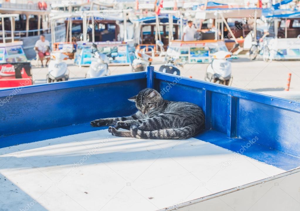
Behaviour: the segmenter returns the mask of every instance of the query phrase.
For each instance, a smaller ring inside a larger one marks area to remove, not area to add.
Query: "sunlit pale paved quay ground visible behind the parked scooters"
[[[70,71],[70,80],[82,79],[88,71],[88,67],[73,65],[73,60],[68,60],[68,69]],[[162,64],[161,58],[155,58],[154,66],[158,70]],[[292,73],[290,91],[300,92],[300,61],[271,61],[260,60],[250,61],[246,55],[240,55],[240,58],[232,61],[232,86],[251,91],[283,91],[288,73]],[[48,69],[35,67],[35,61],[32,61],[32,72],[37,75],[35,84],[46,82]],[[182,74],[192,76],[195,79],[204,79],[205,70],[208,64],[186,64]],[[109,67],[111,75],[130,73],[129,66]]]

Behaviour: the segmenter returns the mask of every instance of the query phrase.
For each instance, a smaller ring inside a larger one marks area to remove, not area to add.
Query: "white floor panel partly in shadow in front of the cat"
[[[0,210],[158,210],[282,172],[195,138],[99,130],[0,149]]]

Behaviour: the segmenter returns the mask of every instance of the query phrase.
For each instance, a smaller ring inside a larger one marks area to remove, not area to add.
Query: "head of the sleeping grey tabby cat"
[[[155,110],[160,103],[162,102],[163,98],[158,91],[146,88],[139,92],[139,94],[131,97],[128,99],[131,102],[135,102],[135,106],[139,111],[143,114],[148,114],[149,111]]]

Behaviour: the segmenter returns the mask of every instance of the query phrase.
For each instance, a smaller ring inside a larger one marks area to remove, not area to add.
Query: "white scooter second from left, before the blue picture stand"
[[[108,63],[110,63],[106,54],[95,52],[96,61],[92,61],[85,78],[96,78],[100,76],[108,76],[110,71]]]

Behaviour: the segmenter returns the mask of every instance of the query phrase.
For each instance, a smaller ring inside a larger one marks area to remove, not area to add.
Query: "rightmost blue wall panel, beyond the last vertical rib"
[[[246,140],[257,137],[256,144],[300,156],[299,112],[244,99],[239,100],[238,108],[238,137]]]

